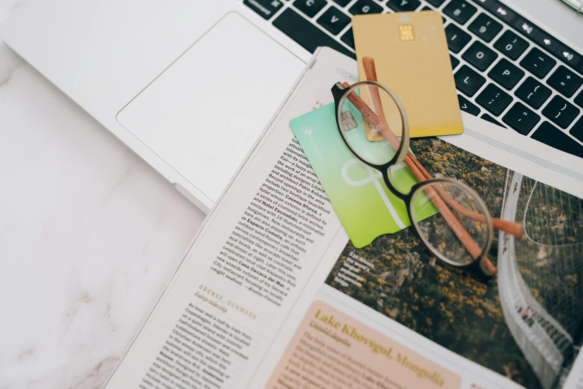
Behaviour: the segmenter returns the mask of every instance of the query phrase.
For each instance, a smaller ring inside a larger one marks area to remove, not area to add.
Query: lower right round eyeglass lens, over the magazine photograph
[[[490,214],[475,192],[456,182],[428,181],[411,198],[412,224],[445,263],[472,263],[491,242]]]

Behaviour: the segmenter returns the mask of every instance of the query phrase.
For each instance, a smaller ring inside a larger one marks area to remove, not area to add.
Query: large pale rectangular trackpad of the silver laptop
[[[228,13],[117,120],[216,201],[303,66],[242,16]]]

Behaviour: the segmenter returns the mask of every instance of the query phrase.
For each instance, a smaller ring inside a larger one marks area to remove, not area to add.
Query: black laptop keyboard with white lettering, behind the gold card
[[[350,19],[441,13],[459,107],[583,158],[583,55],[497,0],[244,0],[310,52],[354,55]]]

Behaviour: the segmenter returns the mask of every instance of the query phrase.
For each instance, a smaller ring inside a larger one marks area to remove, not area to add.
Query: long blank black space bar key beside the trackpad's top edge
[[[273,20],[273,26],[278,27],[278,29],[282,30],[287,36],[310,52],[314,52],[318,46],[328,46],[350,56],[350,58],[356,59],[356,55],[352,51],[338,43],[331,36],[314,26],[309,20],[291,8],[283,10]]]

